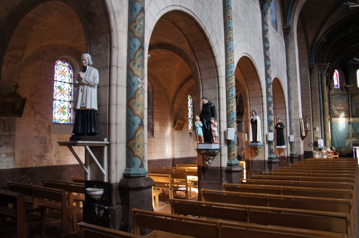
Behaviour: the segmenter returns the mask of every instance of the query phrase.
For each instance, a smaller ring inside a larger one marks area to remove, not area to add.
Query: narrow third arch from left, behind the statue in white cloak
[[[241,87],[241,88],[240,88]],[[262,142],[265,142],[265,132],[267,131],[266,113],[264,92],[261,85],[260,77],[258,75],[255,64],[250,59],[250,56],[242,56],[236,65],[236,91],[243,92],[243,106],[244,106],[244,133],[249,135],[249,117],[250,111],[256,110],[261,119]],[[241,142],[241,135],[239,142]],[[266,158],[266,150],[268,149],[264,143],[264,149],[261,150],[257,156],[254,151],[251,151],[246,145],[248,141],[244,142],[245,146],[245,159],[263,160]],[[244,148],[243,148],[244,149]]]

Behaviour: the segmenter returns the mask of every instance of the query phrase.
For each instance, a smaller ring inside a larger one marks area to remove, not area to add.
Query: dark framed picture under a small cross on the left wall
[[[0,116],[21,117],[23,115],[25,103],[26,103],[26,98],[1,95]]]

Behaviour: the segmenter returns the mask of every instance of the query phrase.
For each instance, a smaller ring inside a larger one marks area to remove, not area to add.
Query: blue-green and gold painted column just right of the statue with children
[[[235,137],[228,140],[227,165],[239,164],[237,157],[237,115],[236,115],[236,77],[233,47],[232,0],[223,0],[224,44],[226,53],[226,96],[227,128],[235,129]]]

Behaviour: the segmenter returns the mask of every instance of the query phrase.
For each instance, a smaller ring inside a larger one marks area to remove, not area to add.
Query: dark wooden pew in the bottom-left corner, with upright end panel
[[[15,209],[8,208],[12,204]],[[32,214],[40,212],[40,216]],[[0,216],[16,220],[16,237],[27,238],[28,227],[41,225],[41,238],[45,238],[45,209],[26,210],[25,195],[0,189]]]

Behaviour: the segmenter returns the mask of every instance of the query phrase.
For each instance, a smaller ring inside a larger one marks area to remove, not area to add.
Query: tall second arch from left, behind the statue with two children
[[[148,11],[151,10],[148,8]],[[160,10],[151,20],[146,21],[149,30],[145,37],[147,46],[145,48],[146,53],[151,56],[149,59],[145,57],[145,65],[147,65],[148,75],[150,76],[150,73],[155,74],[159,78],[169,97],[172,159],[185,158],[188,155],[196,157],[191,145],[192,142],[179,142],[179,137],[193,141],[188,135],[188,131],[183,129],[182,132],[175,132],[173,127],[175,121],[181,118],[185,110],[188,110],[187,107],[184,107],[184,101],[187,100],[189,92],[191,92],[195,109],[201,108],[201,95],[206,95],[215,104],[218,111],[217,117],[220,117],[220,74],[218,73],[217,59],[213,56],[215,55],[213,46],[210,44],[206,28],[188,9],[171,6],[170,9]],[[166,32],[160,33],[160,29],[163,27],[166,27]],[[171,59],[166,60],[166,62],[163,61],[166,58],[163,56],[165,54],[171,55]],[[176,62],[173,62],[174,58],[177,58]],[[170,63],[171,60],[172,63]],[[161,65],[156,65],[157,62]],[[157,70],[160,66],[161,72]],[[167,67],[173,67],[172,74]],[[183,70],[179,71],[178,69]],[[166,79],[163,78],[163,75],[167,76]],[[170,81],[171,85],[167,81]],[[224,139],[222,141],[224,142]],[[149,146],[150,143],[149,140]],[[182,153],[186,151],[186,149],[181,148],[183,143],[188,148],[190,147],[188,155]]]

